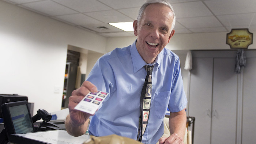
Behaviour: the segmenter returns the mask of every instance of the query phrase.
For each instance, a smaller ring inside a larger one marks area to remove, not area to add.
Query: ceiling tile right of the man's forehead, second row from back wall
[[[177,21],[186,28],[222,27],[222,24],[214,16],[179,18]]]

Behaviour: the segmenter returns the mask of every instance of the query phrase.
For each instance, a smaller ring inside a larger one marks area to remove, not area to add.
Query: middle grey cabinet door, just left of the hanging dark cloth
[[[211,144],[236,143],[235,58],[214,58]]]

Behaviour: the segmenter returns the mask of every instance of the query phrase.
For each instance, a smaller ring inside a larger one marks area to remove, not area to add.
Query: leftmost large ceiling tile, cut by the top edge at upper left
[[[43,12],[48,15],[66,15],[66,14],[75,14],[77,13],[74,10],[71,10],[63,5],[57,4],[53,1],[46,0],[46,1],[37,1],[34,3],[26,3],[22,4],[25,7],[37,10],[39,12]]]

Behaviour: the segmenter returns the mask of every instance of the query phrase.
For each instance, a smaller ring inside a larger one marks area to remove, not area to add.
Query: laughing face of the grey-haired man
[[[169,43],[174,34],[171,31],[173,13],[163,4],[150,4],[144,10],[138,23],[133,22],[134,34],[138,36],[136,47],[146,63],[153,63],[157,55]]]

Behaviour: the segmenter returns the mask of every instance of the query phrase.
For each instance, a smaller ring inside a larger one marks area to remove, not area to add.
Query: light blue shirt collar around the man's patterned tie
[[[131,52],[131,57],[132,57],[132,64],[133,64],[133,72],[136,73],[138,72],[141,68],[144,67],[144,65],[146,65],[147,63],[143,60],[143,58],[140,56],[137,48],[136,48],[136,42],[132,43],[131,48],[130,48],[130,52]],[[159,55],[159,54],[158,54]],[[159,60],[158,58],[159,56],[156,57],[155,62],[153,64],[155,64],[154,67],[157,66],[157,69],[159,69],[159,64],[161,62],[161,60]]]

